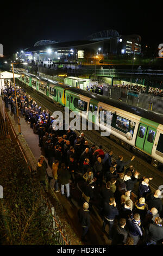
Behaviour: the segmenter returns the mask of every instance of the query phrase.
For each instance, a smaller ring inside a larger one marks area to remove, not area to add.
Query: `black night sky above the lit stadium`
[[[7,55],[33,46],[38,40],[82,40],[104,29],[116,29],[120,35],[139,34],[143,43],[157,46],[163,43],[161,13],[162,4],[158,1],[6,0],[1,13],[0,43]]]

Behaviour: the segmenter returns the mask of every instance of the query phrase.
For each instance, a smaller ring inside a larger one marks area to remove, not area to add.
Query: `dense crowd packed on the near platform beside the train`
[[[16,113],[15,94],[12,84],[4,90],[5,107]],[[18,109],[30,123],[30,129],[39,137],[42,155],[37,162],[36,178],[46,186],[46,180],[54,179],[55,193],[66,195],[70,200],[76,190],[82,191],[83,208],[79,210],[82,225],[82,241],[90,227],[90,214],[93,206],[102,217],[102,230],[107,234],[111,245],[161,245],[163,242],[163,214],[161,191],[151,192],[151,177],[140,178],[140,173],[123,156],[113,159],[113,151],[105,153],[102,145],[89,145],[84,133],[77,136],[70,127],[58,130],[57,119],[49,111],[39,107],[32,97],[17,87]],[[64,125],[64,124],[63,124]],[[48,164],[46,162],[48,161]],[[130,167],[125,168],[129,165]],[[53,178],[48,175],[51,167]],[[135,185],[136,200],[132,196]],[[74,191],[74,193],[73,193]],[[71,194],[70,194],[71,192]],[[90,211],[89,211],[90,209]]]

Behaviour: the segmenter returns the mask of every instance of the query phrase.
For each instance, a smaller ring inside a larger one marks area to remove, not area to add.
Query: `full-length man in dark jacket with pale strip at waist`
[[[114,224],[115,217],[119,214],[116,207],[115,198],[111,197],[109,202],[104,202],[104,222],[102,230],[105,230],[106,224],[109,225],[109,239],[112,240],[112,225]]]

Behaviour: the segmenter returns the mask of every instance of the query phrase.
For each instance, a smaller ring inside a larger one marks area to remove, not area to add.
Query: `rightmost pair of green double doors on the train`
[[[135,143],[136,147],[146,151],[148,154],[151,154],[155,135],[155,128],[145,124],[140,124]]]

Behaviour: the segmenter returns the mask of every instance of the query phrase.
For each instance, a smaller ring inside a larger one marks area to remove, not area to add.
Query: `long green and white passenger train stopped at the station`
[[[85,111],[84,118],[96,125],[100,111],[104,112],[104,120],[110,112],[110,136],[124,148],[138,150],[153,166],[163,170],[163,115],[25,72],[18,79],[71,111]]]

